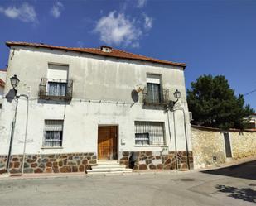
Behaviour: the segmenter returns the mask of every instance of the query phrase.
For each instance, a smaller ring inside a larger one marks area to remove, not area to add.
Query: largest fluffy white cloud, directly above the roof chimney
[[[138,47],[138,39],[142,31],[136,26],[135,20],[130,20],[123,13],[109,12],[101,17],[94,31],[99,33],[100,40],[108,45]]]

